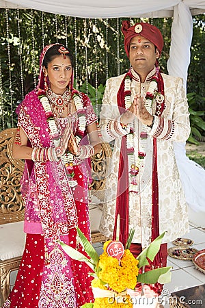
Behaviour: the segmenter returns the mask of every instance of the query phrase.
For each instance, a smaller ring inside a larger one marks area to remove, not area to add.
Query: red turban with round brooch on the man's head
[[[157,27],[154,27],[150,23],[135,23],[131,27],[129,21],[122,21],[121,30],[124,34],[124,49],[128,57],[131,39],[135,38],[135,36],[143,36],[150,40],[159,49],[159,53],[161,54],[163,49],[163,36]]]

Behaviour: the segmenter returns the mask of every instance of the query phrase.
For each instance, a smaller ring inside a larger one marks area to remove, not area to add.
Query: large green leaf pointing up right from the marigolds
[[[156,238],[148,247],[146,247],[136,258],[137,260],[139,260],[139,265],[138,265],[139,268],[141,268],[142,266],[149,265],[147,258],[150,259],[151,261],[154,260],[156,253],[159,252],[161,241],[165,233],[166,231],[163,232],[161,235],[159,235],[159,237]]]

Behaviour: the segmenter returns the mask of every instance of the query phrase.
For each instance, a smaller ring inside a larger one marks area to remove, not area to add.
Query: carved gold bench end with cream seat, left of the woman
[[[25,246],[24,205],[20,198],[20,178],[24,163],[13,159],[12,142],[16,129],[0,133],[0,299],[10,294],[10,272],[17,270]]]

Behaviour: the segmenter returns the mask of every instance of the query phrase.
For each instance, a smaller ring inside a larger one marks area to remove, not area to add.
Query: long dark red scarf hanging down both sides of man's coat
[[[125,75],[131,76],[130,71]],[[158,91],[164,95],[164,84],[161,73],[158,73]],[[118,107],[120,114],[125,111],[124,102],[124,79],[120,85],[117,94]],[[157,107],[157,106],[156,106]],[[161,105],[161,113],[164,109],[164,102]],[[161,114],[160,114],[161,115]],[[116,238],[117,220],[120,215],[120,241],[122,244],[126,243],[128,238],[128,157],[126,153],[126,136],[122,138],[120,149],[120,162],[118,172],[118,194],[116,200],[115,210],[115,226],[113,231],[113,240]],[[159,188],[158,188],[158,176],[157,176],[157,148],[156,138],[153,138],[153,159],[152,159],[152,240],[159,236]],[[154,259],[154,266],[161,264],[161,249]]]

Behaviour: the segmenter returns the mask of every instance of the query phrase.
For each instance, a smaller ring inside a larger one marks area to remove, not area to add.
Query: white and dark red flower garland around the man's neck
[[[163,97],[156,92],[158,86],[158,72],[156,69],[156,74],[152,77],[150,86],[148,88],[148,92],[146,92],[146,101],[144,103],[146,110],[151,114],[152,113],[152,102],[154,99],[159,96],[160,99]],[[132,105],[131,101],[131,75],[126,75],[124,79],[124,101],[125,101],[125,109],[128,110]],[[162,100],[163,101],[163,100]],[[134,131],[131,127],[130,133],[126,136],[126,150],[128,154],[128,172],[131,177],[131,185],[129,186],[130,192],[139,192],[138,183],[137,183],[137,175],[139,174],[139,168],[143,164],[143,159],[146,157],[145,146],[148,138],[148,127],[147,125],[141,125],[141,132],[139,134],[139,149],[138,149],[138,157],[135,159],[134,155]]]

